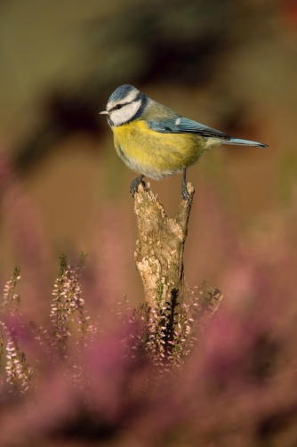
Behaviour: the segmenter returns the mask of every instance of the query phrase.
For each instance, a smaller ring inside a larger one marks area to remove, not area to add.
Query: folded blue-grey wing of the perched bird
[[[147,121],[147,124],[150,129],[162,134],[197,134],[208,138],[220,138],[221,140],[231,139],[228,134],[183,117],[165,121]]]

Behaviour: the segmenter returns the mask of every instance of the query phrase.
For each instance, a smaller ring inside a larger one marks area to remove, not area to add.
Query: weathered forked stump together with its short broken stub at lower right
[[[188,183],[187,188],[193,198],[192,183]],[[164,207],[150,190],[149,183],[148,186],[140,184],[134,200],[139,229],[134,255],[136,268],[143,283],[148,312],[149,309],[157,308],[173,311],[171,325],[173,330],[179,320],[175,319],[178,315],[175,313],[177,306],[186,303],[188,296],[189,302],[191,301],[189,295],[191,290],[184,277],[183,251],[188,234],[192,200],[181,200],[174,219],[165,215]],[[198,290],[197,327],[203,334],[213,314],[217,312],[223,296],[219,289],[213,287]]]

